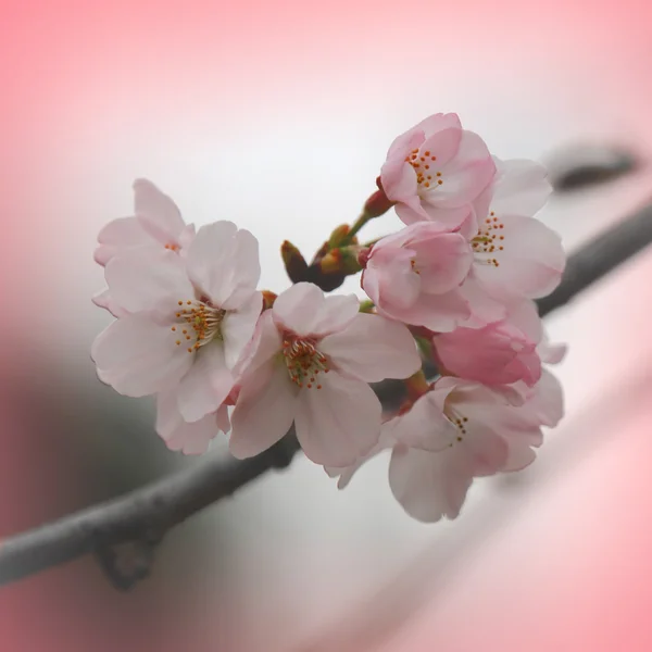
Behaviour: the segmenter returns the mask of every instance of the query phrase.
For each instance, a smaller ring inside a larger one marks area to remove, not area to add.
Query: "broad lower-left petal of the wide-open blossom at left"
[[[192,355],[175,344],[170,326],[148,314],[127,315],[96,338],[91,356],[103,383],[127,397],[143,397],[170,388],[192,364]]]

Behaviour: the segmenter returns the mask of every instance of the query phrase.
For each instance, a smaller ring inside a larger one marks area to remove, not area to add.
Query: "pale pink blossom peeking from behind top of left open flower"
[[[179,252],[193,237],[195,226],[186,225],[174,201],[151,181],[137,179],[134,181],[134,215],[118,217],[100,231],[95,260],[105,265],[118,253],[131,249]]]

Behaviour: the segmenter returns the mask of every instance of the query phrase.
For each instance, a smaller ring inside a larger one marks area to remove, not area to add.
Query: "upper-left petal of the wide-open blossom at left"
[[[115,256],[104,277],[113,301],[128,312],[150,310],[161,301],[195,298],[184,261],[173,251],[130,250]]]

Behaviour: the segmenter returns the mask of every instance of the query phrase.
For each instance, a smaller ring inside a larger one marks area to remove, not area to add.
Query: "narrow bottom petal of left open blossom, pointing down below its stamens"
[[[184,419],[193,423],[220,408],[234,387],[234,377],[226,367],[222,342],[212,341],[190,355],[195,361],[179,383],[177,401]]]

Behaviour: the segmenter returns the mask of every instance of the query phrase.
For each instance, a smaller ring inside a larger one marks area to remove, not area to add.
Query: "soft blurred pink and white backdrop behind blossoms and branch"
[[[501,158],[635,155],[546,209],[573,250],[651,199],[651,17],[645,0],[2,3],[0,537],[197,462],[89,359],[109,323],[97,233],[136,177],[188,222],[252,230],[278,291],[280,242],[312,254],[391,140],[454,111]],[[549,319],[567,417],[457,521],[404,515],[387,460],[338,492],[298,457],[175,529],[129,593],[91,559],[0,589],[0,650],[651,650],[651,276],[648,250]]]

